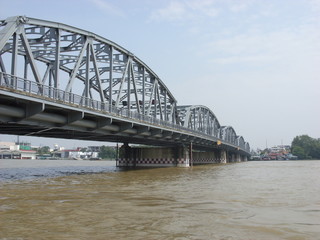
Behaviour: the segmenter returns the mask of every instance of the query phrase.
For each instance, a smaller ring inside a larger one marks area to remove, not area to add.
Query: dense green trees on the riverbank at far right
[[[291,152],[298,159],[320,159],[320,138],[296,136],[291,143]]]

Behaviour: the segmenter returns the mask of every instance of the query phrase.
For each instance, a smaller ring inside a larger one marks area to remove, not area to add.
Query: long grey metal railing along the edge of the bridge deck
[[[57,103],[68,104],[75,107],[87,108],[90,110],[95,110],[97,112],[106,112],[111,113],[116,116],[121,116],[124,118],[129,118],[132,120],[139,120],[141,122],[146,122],[152,125],[159,125],[161,127],[167,127],[179,131],[186,131],[193,133],[194,135],[200,135],[206,138],[210,138],[214,141],[221,141],[225,144],[230,144],[227,141],[223,141],[217,137],[207,135],[205,133],[172,123],[162,119],[157,119],[151,116],[147,116],[145,114],[141,114],[138,112],[129,111],[128,109],[116,108],[109,103],[103,103],[101,101],[97,101],[88,97],[84,97],[81,95],[77,95],[71,92],[66,92],[61,89],[57,89],[51,86],[47,86],[44,84],[36,83],[34,81],[30,81],[24,78],[12,76],[7,73],[0,72],[0,86],[11,88],[24,94],[32,94],[32,96],[39,96],[41,99],[48,99],[50,101],[54,101]],[[239,147],[239,146],[237,146]],[[244,151],[247,151],[245,148],[241,148]]]

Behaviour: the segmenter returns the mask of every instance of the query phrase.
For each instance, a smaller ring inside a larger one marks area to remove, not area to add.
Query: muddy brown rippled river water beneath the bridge
[[[0,160],[0,239],[320,239],[320,161]]]

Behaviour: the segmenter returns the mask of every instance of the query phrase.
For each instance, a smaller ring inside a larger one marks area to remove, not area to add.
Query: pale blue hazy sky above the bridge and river
[[[116,42],[161,78],[178,105],[209,107],[253,149],[290,145],[302,134],[320,138],[320,0],[0,0],[0,6],[0,19],[62,22]]]

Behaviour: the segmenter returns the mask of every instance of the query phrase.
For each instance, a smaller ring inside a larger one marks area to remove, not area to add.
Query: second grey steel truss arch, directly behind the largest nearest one
[[[178,106],[179,122],[182,126],[220,138],[220,123],[215,114],[206,106]]]

